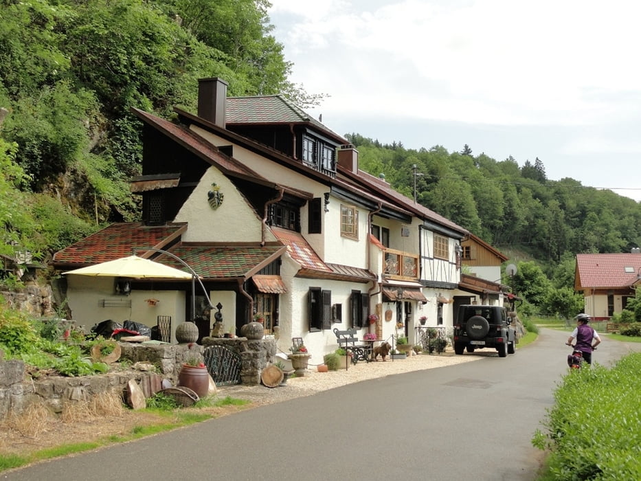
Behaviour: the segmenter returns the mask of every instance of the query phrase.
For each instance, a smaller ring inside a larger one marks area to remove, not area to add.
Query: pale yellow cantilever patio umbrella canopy
[[[192,279],[192,274],[139,256],[108,260],[65,274],[78,276],[126,277],[134,279]]]

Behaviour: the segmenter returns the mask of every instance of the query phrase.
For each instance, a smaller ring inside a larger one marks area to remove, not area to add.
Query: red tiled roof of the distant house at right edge
[[[576,254],[576,289],[629,287],[640,273],[641,254]]]

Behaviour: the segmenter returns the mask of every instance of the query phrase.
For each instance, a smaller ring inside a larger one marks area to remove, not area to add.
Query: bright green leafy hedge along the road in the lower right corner
[[[611,369],[572,370],[532,443],[549,449],[546,479],[641,480],[641,353]]]

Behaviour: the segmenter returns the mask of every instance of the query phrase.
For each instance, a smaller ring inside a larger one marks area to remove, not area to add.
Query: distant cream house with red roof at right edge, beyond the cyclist
[[[641,254],[576,254],[574,290],[583,293],[585,313],[597,321],[620,313],[641,284]]]

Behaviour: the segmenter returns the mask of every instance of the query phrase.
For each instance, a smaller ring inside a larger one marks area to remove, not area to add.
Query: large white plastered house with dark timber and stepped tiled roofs
[[[142,175],[131,182],[141,221],[105,227],[56,253],[54,266],[137,254],[188,265],[202,288],[131,279],[124,295],[117,280],[69,275],[74,319],[194,320],[202,336],[216,310],[236,333],[257,316],[284,353],[301,337],[312,363],[337,348],[333,328],[413,344],[423,315],[451,326],[469,233],[360,170],[347,139],[282,96],[227,97],[219,78],[199,80],[195,115],[133,112],[143,125]]]

